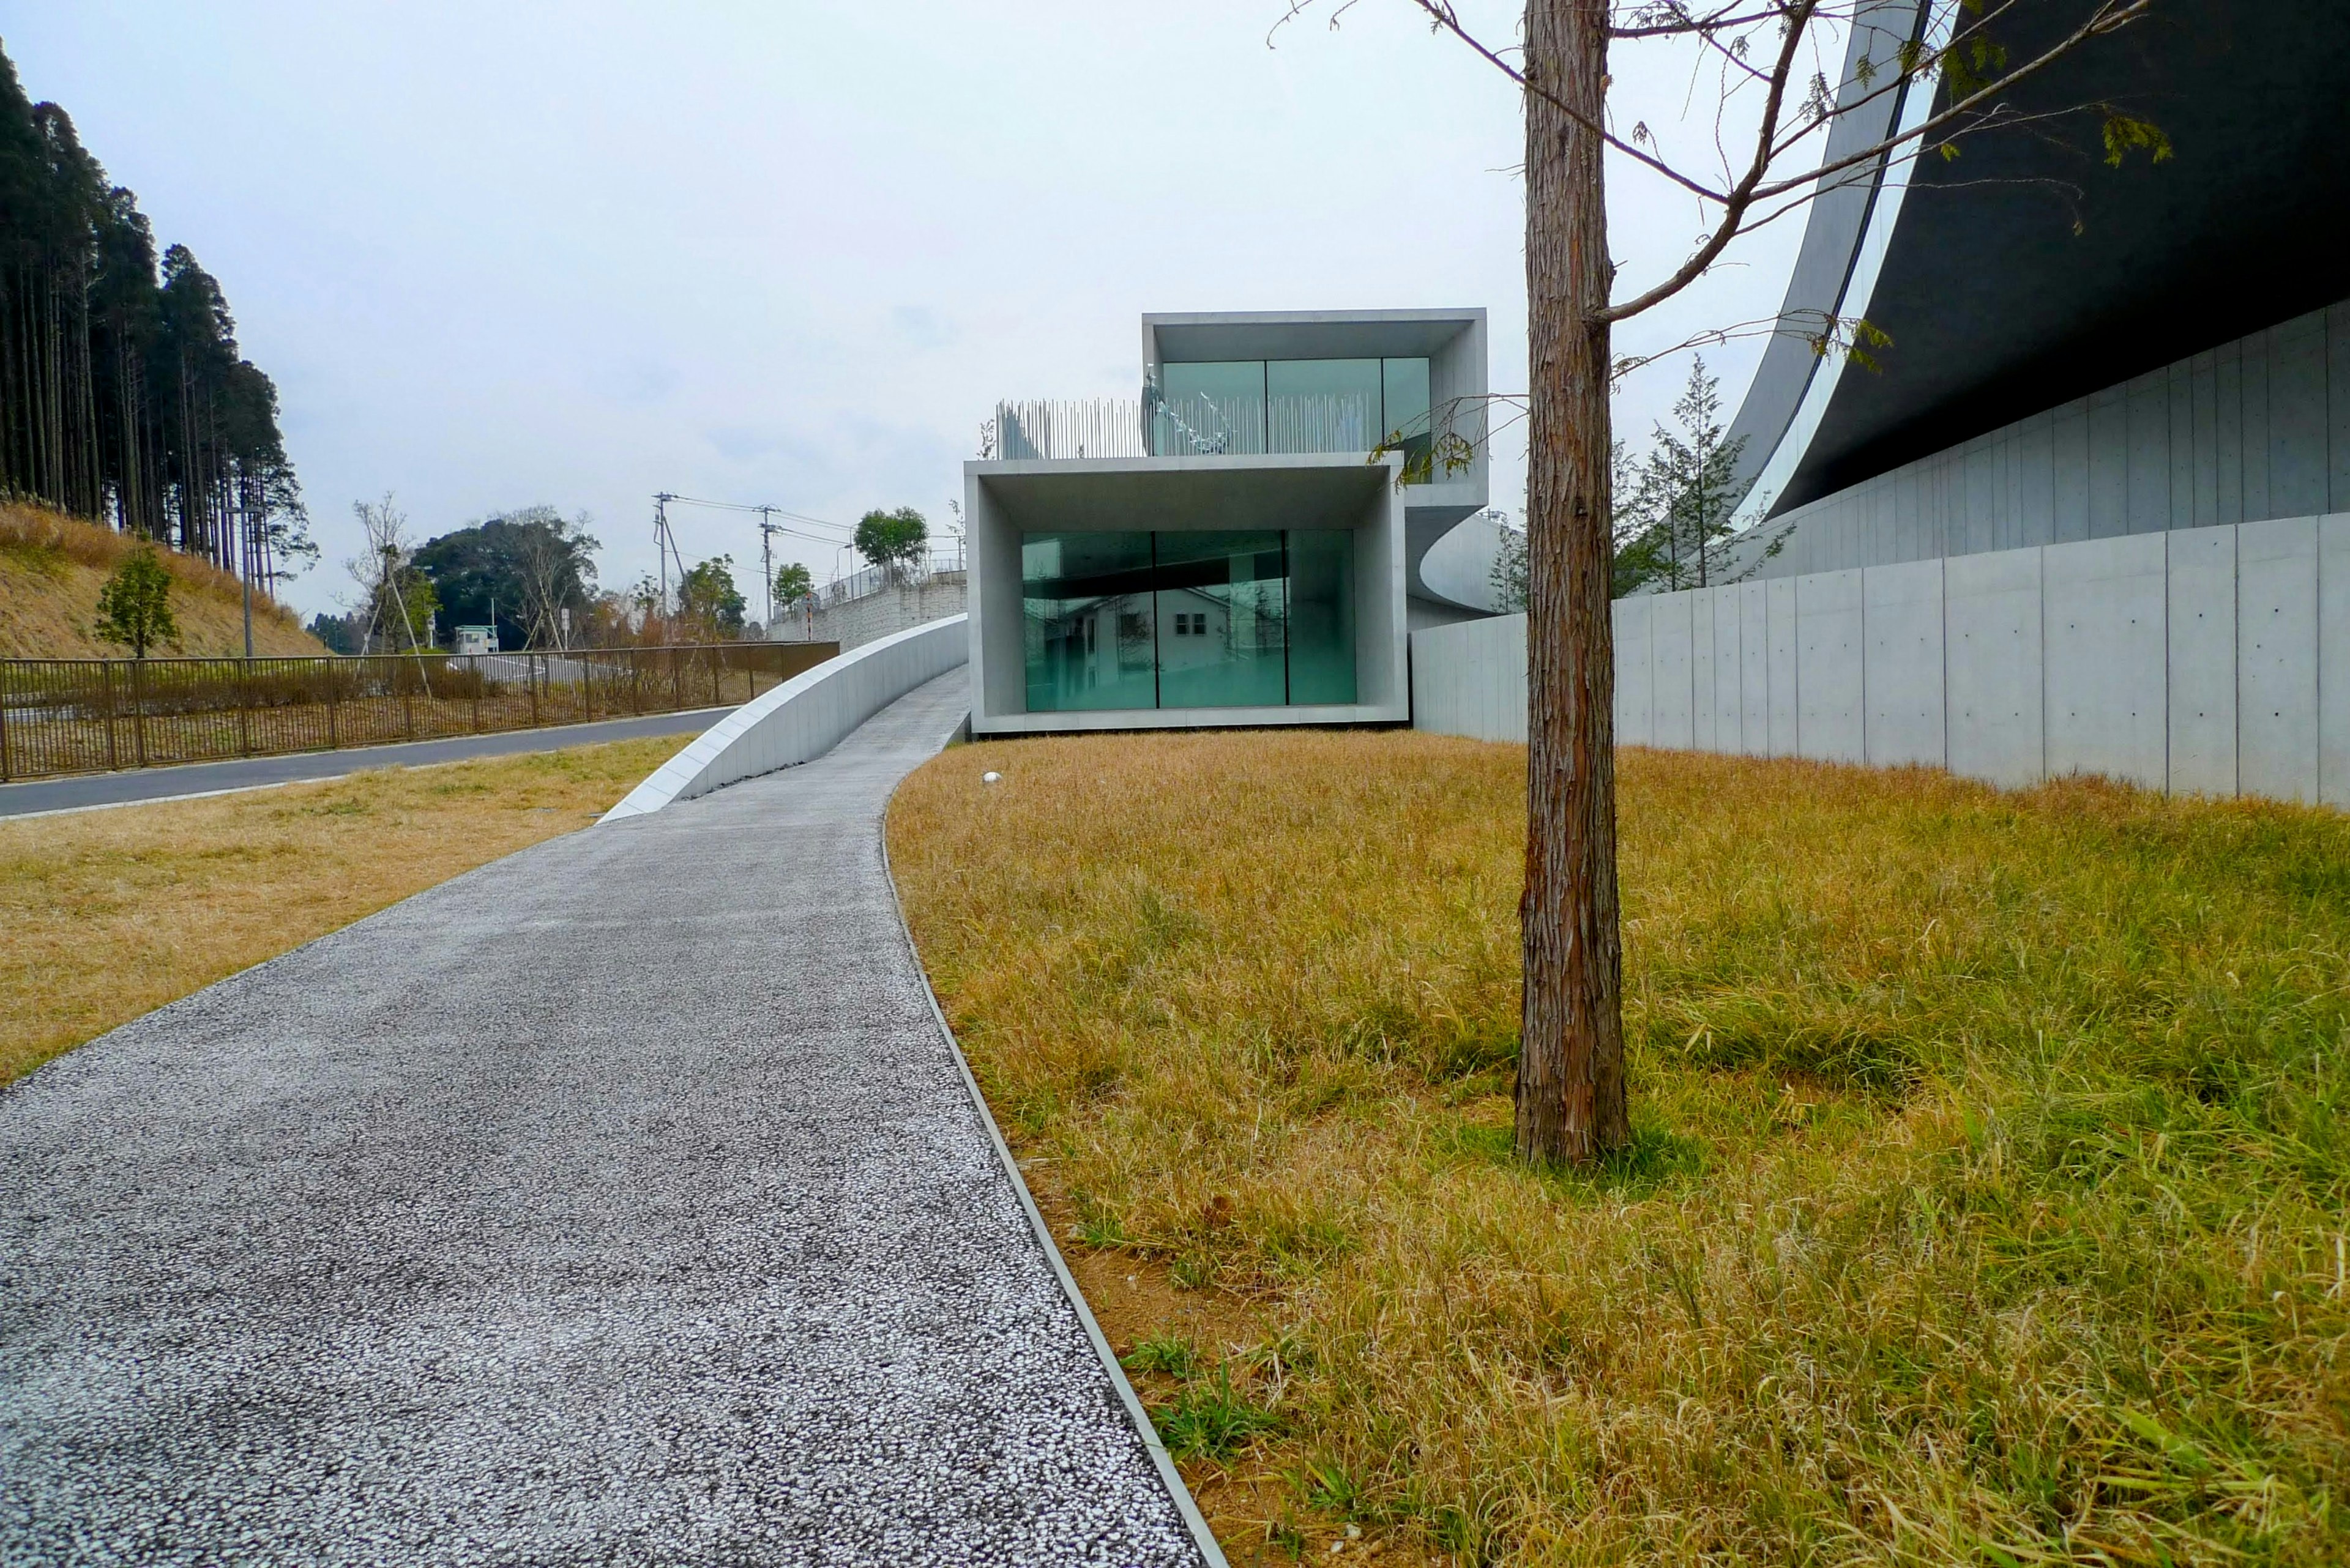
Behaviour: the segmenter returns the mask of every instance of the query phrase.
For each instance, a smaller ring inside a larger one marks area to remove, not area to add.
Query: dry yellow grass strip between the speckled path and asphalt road
[[[0,818],[0,1084],[409,893],[585,827],[689,738]]]

